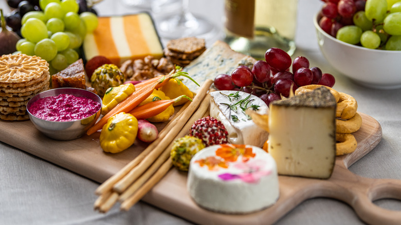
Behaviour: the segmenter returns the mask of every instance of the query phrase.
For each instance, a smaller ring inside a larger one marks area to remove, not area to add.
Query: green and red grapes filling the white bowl
[[[401,0],[358,0],[355,2],[340,0],[339,14],[340,4],[344,2],[351,8],[354,3],[360,5],[363,2],[364,7],[350,14],[351,24],[341,24],[331,16],[336,12],[333,4],[326,3],[322,8],[323,16],[319,21],[323,30],[329,32],[330,23],[333,27],[336,24],[339,29],[335,35],[330,34],[340,41],[370,49],[401,50]]]

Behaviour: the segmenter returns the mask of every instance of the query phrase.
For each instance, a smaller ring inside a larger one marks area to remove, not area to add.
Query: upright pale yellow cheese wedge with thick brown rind
[[[336,100],[320,87],[270,104],[268,152],[280,175],[329,178],[336,157]]]

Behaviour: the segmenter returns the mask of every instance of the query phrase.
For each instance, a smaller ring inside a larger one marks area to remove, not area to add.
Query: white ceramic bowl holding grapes
[[[324,58],[356,83],[375,89],[401,88],[401,51],[369,49],[335,39],[314,17],[317,39]]]

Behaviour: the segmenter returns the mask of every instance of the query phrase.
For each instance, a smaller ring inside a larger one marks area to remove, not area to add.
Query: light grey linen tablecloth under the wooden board
[[[4,7],[5,2],[2,1],[0,6]],[[190,1],[190,10],[204,15],[221,28],[223,2]],[[381,124],[381,142],[371,153],[352,165],[350,170],[363,177],[401,179],[401,89],[374,90],[359,86],[326,62],[318,49],[312,23],[313,15],[321,4],[318,0],[299,0],[297,51],[293,57],[304,55],[311,66],[334,74],[334,88],[354,96],[358,101],[358,110]],[[100,15],[137,11],[112,0],[104,0],[96,8]],[[383,72],[386,72],[386,68],[383,68]],[[191,224],[143,202],[137,203],[129,212],[120,212],[118,205],[106,214],[95,212],[93,203],[97,196],[94,191],[98,185],[0,142],[0,224]],[[398,200],[378,200],[375,203],[382,208],[401,210],[401,201]],[[277,222],[323,223],[363,224],[347,204],[326,198],[307,200]]]

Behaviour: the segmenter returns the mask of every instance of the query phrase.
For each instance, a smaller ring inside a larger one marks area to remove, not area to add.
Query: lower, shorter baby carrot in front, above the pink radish
[[[172,105],[174,102],[179,102],[182,98],[186,98],[189,101],[192,101],[191,98],[189,98],[185,95],[179,96],[175,99],[153,101],[153,102],[149,102],[147,104],[135,107],[133,110],[130,111],[130,114],[133,115],[138,120],[139,119],[148,119],[148,118],[154,117],[154,116],[162,113],[170,105]]]

